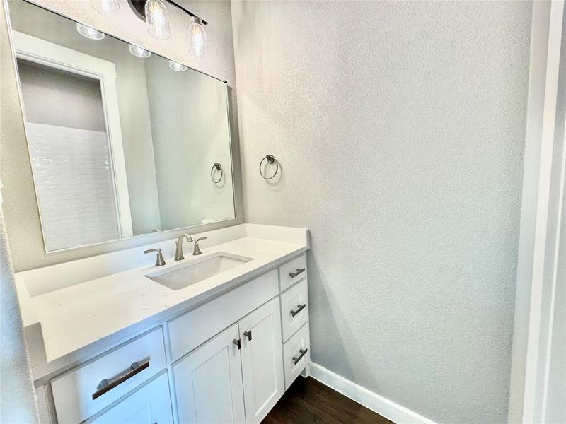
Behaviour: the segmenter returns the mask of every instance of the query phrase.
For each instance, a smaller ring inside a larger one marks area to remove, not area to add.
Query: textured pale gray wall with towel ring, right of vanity
[[[531,4],[232,16],[246,219],[311,230],[313,361],[432,420],[504,423]]]

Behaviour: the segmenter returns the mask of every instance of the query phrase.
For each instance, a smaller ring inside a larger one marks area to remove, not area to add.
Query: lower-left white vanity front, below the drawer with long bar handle
[[[173,424],[166,372],[87,423]]]

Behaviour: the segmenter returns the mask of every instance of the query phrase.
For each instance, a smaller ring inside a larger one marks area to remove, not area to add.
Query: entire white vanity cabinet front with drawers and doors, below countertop
[[[52,379],[57,420],[258,424],[308,345],[302,254]]]

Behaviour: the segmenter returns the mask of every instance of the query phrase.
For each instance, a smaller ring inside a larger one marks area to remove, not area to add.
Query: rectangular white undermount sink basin
[[[146,274],[147,278],[165,285],[171,290],[180,290],[189,285],[198,283],[206,278],[216,276],[235,266],[246,264],[252,258],[241,257],[226,252],[216,252],[202,259],[193,259],[188,263],[170,266],[162,271]]]

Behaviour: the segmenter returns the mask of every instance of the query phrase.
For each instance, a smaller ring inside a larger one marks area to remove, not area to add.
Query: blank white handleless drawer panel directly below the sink
[[[273,269],[172,319],[168,322],[168,329],[173,361],[200,346],[267,300],[275,298],[278,292],[277,269]]]

